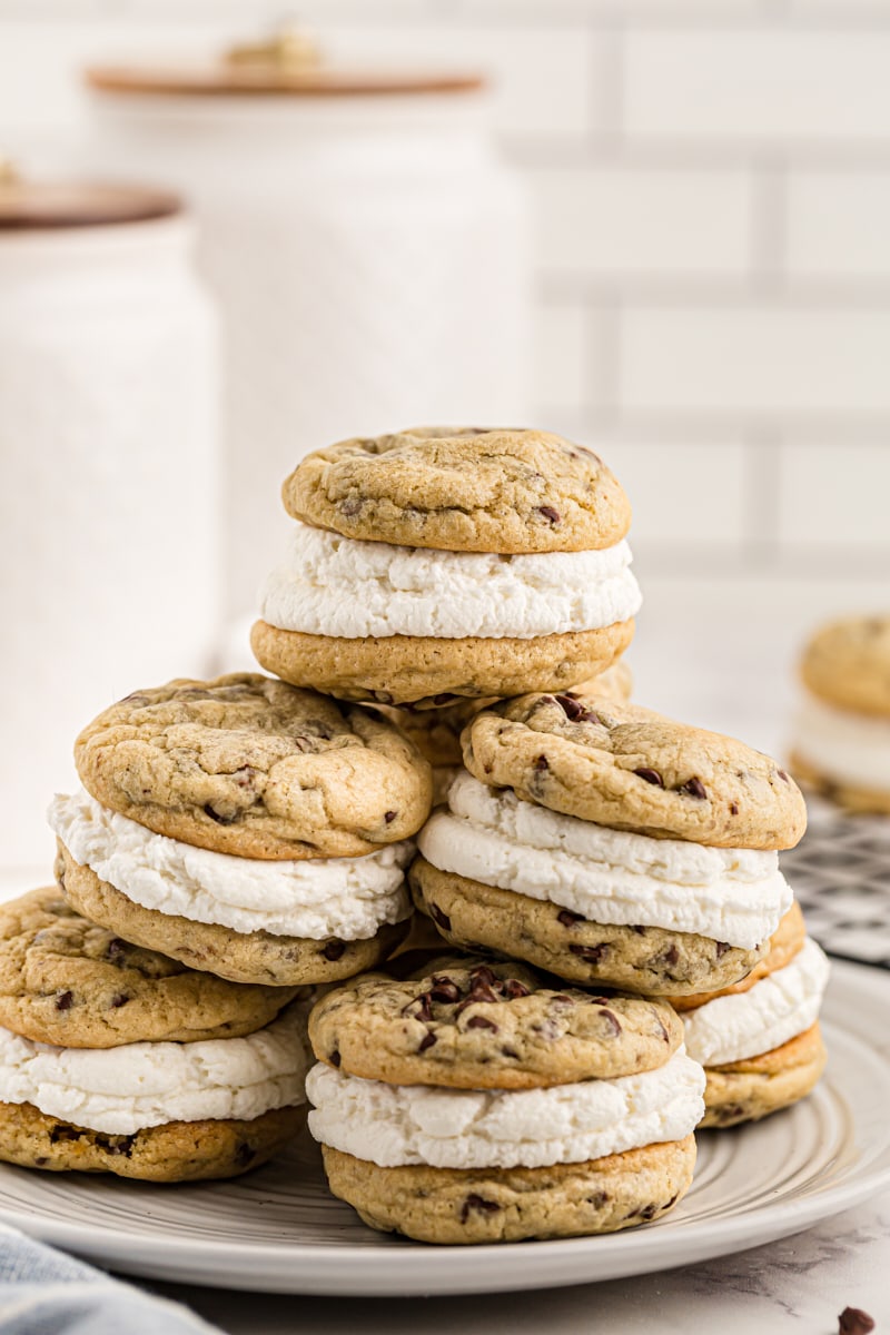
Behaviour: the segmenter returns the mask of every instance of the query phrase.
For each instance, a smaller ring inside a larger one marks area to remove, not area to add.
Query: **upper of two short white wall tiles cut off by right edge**
[[[787,194],[793,278],[890,278],[890,170],[793,171]]]

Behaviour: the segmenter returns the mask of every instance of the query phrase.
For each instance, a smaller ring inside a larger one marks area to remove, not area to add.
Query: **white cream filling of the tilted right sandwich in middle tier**
[[[745,951],[773,934],[793,898],[778,853],[608,829],[466,772],[418,848],[443,872],[548,900],[591,922],[695,932]]]

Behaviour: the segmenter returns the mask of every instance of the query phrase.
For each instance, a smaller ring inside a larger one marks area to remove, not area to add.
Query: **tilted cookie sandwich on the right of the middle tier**
[[[767,756],[576,693],[480,712],[463,756],[408,873],[448,941],[671,997],[766,955],[793,898],[777,849],[806,822]]]

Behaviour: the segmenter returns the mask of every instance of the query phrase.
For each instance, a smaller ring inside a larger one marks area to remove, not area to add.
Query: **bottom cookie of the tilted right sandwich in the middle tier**
[[[762,959],[707,936],[656,926],[608,926],[578,913],[440,872],[418,856],[408,872],[414,902],[454,945],[528,960],[584,987],[615,987],[646,996],[691,996],[738,983]]]

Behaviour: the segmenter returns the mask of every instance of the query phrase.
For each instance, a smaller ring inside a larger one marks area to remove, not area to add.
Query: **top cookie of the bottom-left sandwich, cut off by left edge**
[[[0,1025],[35,1043],[231,1039],[263,1028],[296,988],[226,983],[80,917],[57,886],[0,906]]]

